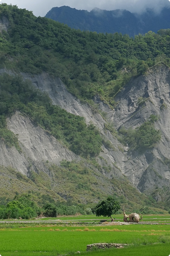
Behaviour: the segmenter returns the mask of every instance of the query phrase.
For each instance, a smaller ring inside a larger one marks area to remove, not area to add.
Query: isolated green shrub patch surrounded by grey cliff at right
[[[150,120],[144,122],[135,129],[121,128],[119,133],[123,135],[124,141],[131,147],[140,150],[154,147],[161,139],[161,132],[154,128],[157,116],[151,115]]]

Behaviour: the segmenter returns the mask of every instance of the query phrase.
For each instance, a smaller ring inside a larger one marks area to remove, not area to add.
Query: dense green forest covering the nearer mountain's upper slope
[[[132,76],[155,63],[170,64],[169,30],[130,38],[71,29],[32,12],[1,4],[0,15],[11,24],[0,34],[0,65],[16,71],[59,76],[79,98],[96,94],[111,105]],[[122,71],[123,70],[123,71]]]

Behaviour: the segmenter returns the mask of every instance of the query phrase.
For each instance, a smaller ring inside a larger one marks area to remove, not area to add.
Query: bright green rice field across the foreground
[[[122,215],[121,215],[122,216]],[[62,217],[72,220],[78,217]],[[93,215],[94,217],[94,215]],[[118,216],[117,216],[118,217]],[[149,218],[150,217],[150,218]],[[89,218],[89,215],[87,215]],[[144,219],[169,219],[169,215],[146,216]],[[54,218],[48,218],[54,219]],[[55,218],[56,219],[56,218]],[[60,218],[61,219],[61,218]],[[104,218],[106,219],[106,218]],[[122,249],[86,252],[86,245],[97,242],[128,244]],[[77,252],[80,253],[77,253]],[[1,256],[169,256],[170,225],[113,226],[41,226],[0,228]]]

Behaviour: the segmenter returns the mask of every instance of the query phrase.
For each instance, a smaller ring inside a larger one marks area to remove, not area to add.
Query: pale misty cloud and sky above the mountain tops
[[[160,12],[163,7],[170,7],[169,0],[2,0],[0,3],[17,5],[33,11],[36,16],[45,16],[52,7],[63,5],[76,8],[78,10],[91,11],[97,7],[103,10],[126,9],[131,12],[143,12],[147,8]]]

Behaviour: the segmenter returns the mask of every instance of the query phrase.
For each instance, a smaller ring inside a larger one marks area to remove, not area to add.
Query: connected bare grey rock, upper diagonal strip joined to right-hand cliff
[[[102,156],[116,162],[123,174],[140,191],[152,189],[155,185],[162,187],[169,186],[170,169],[167,164],[170,159],[170,70],[169,68],[157,67],[148,72],[147,75],[141,75],[133,78],[118,93],[116,100],[119,101],[115,111],[104,104],[98,97],[94,99],[95,103],[103,112],[107,113],[107,120],[110,121],[116,129],[122,125],[125,128],[135,128],[148,120],[151,114],[160,116],[155,124],[157,129],[162,132],[161,142],[153,150],[148,150],[144,154],[138,152],[120,151],[120,143],[109,131],[104,132],[104,123],[106,121],[99,113],[94,111],[88,105],[82,105],[78,99],[66,90],[66,87],[60,79],[50,79],[46,74],[41,76],[25,78],[32,80],[39,89],[47,91],[54,104],[60,105],[68,112],[85,117],[87,123],[92,121],[99,127],[100,131],[115,146],[115,151],[108,151],[104,148]],[[143,105],[138,105],[138,98],[145,97],[148,100]],[[165,164],[166,162],[166,164]]]

